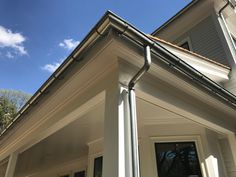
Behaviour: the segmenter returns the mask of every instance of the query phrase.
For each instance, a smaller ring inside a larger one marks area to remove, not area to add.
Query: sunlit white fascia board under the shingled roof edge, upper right
[[[196,55],[184,52],[173,46],[164,44],[162,42],[159,43],[161,43],[163,47],[172,52],[174,55],[176,55],[177,57],[188,63],[190,66],[192,66],[205,76],[209,77],[211,80],[218,83],[226,82],[229,80],[228,75],[230,69],[224,68],[210,61],[203,60],[202,58],[197,57]]]

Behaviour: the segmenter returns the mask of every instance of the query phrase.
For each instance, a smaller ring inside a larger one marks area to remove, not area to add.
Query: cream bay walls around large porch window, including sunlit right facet
[[[203,177],[227,177],[216,133],[191,124],[146,126],[141,129],[140,156],[142,176],[157,176],[155,142],[196,143]],[[218,166],[214,166],[214,161]]]

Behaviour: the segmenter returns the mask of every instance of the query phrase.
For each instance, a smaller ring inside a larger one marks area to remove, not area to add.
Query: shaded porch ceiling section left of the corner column
[[[27,176],[86,157],[87,142],[103,136],[104,103],[19,154],[16,176]],[[30,158],[29,158],[30,157]]]

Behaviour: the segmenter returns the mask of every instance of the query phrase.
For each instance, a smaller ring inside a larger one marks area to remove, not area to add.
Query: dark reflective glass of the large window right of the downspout
[[[155,143],[158,177],[202,177],[194,142]]]

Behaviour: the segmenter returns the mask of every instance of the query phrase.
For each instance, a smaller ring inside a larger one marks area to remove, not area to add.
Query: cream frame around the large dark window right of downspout
[[[200,170],[202,173],[203,177],[206,176],[206,165],[205,165],[205,160],[204,160],[204,152],[203,152],[203,146],[201,142],[201,137],[200,136],[159,136],[159,137],[150,137],[151,139],[151,153],[152,153],[152,163],[154,164],[155,167],[155,173],[156,176],[158,177],[158,169],[157,169],[157,162],[156,162],[156,151],[155,151],[155,143],[177,143],[177,142],[194,142],[197,155],[198,155],[198,162],[200,166]]]

